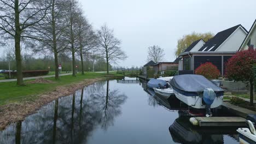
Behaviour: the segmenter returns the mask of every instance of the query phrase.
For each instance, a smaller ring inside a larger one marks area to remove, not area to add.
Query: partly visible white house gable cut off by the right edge
[[[249,46],[254,49],[256,47],[256,20],[253,22],[253,25],[250,28],[248,34],[246,35],[246,38],[243,40],[243,43],[239,50],[248,50]]]

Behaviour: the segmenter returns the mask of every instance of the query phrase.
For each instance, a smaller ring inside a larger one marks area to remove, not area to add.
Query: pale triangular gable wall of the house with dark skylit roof
[[[218,47],[216,51],[238,51],[246,35],[246,32],[239,27],[222,45]]]

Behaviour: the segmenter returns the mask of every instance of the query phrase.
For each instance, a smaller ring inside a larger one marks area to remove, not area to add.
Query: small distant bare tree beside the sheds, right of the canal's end
[[[160,61],[164,61],[164,49],[159,47],[158,45],[153,45],[148,47],[148,58],[147,61],[154,61],[158,63]]]

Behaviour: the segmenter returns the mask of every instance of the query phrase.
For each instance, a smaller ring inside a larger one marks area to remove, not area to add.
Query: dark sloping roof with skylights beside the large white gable
[[[213,38],[208,40],[205,45],[199,49],[199,51],[202,51],[205,49],[205,51],[208,51],[213,48],[210,51],[215,51],[238,27],[242,27],[246,32],[247,30],[242,25],[237,25],[228,29],[225,29],[224,31],[218,32]]]

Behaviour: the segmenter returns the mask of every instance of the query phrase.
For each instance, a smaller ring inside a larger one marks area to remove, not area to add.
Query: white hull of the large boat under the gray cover
[[[202,98],[200,98],[199,96],[193,96],[193,97],[189,96],[188,97],[186,95],[178,93],[174,89],[173,89],[173,92],[174,92],[175,96],[179,100],[181,100],[183,103],[185,103],[191,107],[194,107],[195,109],[205,109],[205,105],[202,104]],[[211,109],[222,105],[222,103],[223,103],[223,96],[216,97],[214,99],[213,103],[211,104]]]

